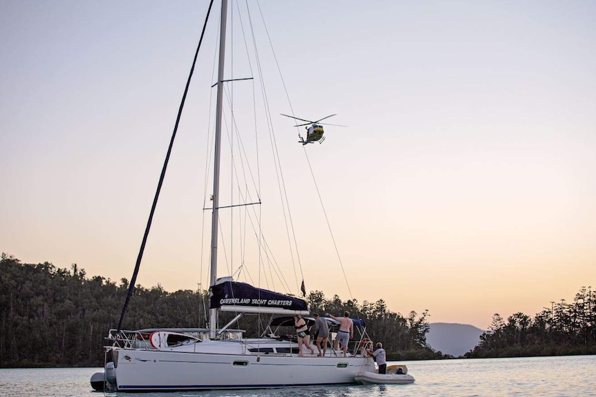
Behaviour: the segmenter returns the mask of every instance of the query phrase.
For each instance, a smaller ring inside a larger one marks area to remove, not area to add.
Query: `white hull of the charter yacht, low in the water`
[[[259,346],[265,345],[273,346]],[[114,348],[118,391],[341,385],[355,383],[355,374],[375,367],[370,358],[343,358],[341,352],[339,357],[330,356],[330,351],[326,357],[317,357],[316,350],[314,356],[307,350],[304,357],[245,354],[247,347],[238,341],[205,341],[169,350]],[[222,354],[222,349],[230,353]]]

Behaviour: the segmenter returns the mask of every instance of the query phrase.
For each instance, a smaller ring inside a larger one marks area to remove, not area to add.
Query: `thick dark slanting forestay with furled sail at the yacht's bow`
[[[167,149],[167,155],[165,157],[165,161],[163,164],[163,168],[161,171],[160,179],[158,182],[157,190],[155,197],[153,197],[153,204],[151,205],[151,212],[149,213],[149,219],[147,220],[147,226],[145,227],[145,234],[143,235],[139,254],[137,257],[137,262],[135,264],[135,269],[133,271],[133,276],[131,278],[131,283],[129,285],[129,291],[127,293],[127,298],[124,301],[124,307],[122,307],[122,313],[120,314],[120,320],[118,321],[118,331],[122,329],[122,322],[124,321],[124,316],[126,316],[127,309],[129,307],[129,303],[133,293],[135,291],[135,283],[137,280],[137,275],[140,269],[140,264],[143,256],[143,252],[145,251],[145,244],[147,244],[147,238],[149,237],[149,230],[151,229],[151,222],[153,221],[153,214],[155,213],[155,209],[157,206],[157,202],[159,199],[159,193],[161,191],[161,186],[163,184],[163,180],[165,178],[165,172],[167,170],[167,164],[169,162],[169,156],[171,155],[171,149],[174,146],[174,139],[176,139],[176,132],[178,131],[178,124],[180,123],[180,116],[182,115],[182,110],[184,108],[184,104],[186,101],[186,95],[188,93],[188,88],[190,86],[190,81],[192,79],[192,74],[194,72],[194,66],[196,65],[196,59],[198,57],[198,51],[201,49],[201,43],[203,42],[203,37],[205,36],[205,28],[207,28],[207,21],[209,20],[209,14],[211,12],[211,8],[213,6],[213,0],[209,2],[209,8],[207,9],[207,16],[205,17],[205,23],[203,24],[203,31],[201,32],[201,39],[198,41],[198,46],[196,47],[196,52],[194,54],[194,59],[192,61],[192,67],[190,68],[190,73],[186,82],[186,87],[184,90],[184,94],[182,96],[182,101],[180,101],[180,107],[178,108],[178,116],[176,117],[176,124],[174,124],[174,132],[171,135],[171,139],[169,142],[169,147]]]

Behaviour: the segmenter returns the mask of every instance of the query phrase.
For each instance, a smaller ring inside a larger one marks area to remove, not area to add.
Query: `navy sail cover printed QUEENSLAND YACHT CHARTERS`
[[[308,314],[305,300],[252,287],[245,282],[226,281],[211,287],[211,309],[248,313]]]

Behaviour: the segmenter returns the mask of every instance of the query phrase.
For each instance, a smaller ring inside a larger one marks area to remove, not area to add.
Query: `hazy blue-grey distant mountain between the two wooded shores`
[[[427,333],[428,345],[443,354],[459,357],[474,349],[480,342],[484,332],[480,328],[467,324],[449,324],[447,322],[433,322]]]

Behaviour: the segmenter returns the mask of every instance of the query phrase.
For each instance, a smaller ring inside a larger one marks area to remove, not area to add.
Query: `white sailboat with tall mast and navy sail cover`
[[[375,363],[366,355],[372,342],[362,320],[353,319],[355,340],[347,356],[330,347],[327,354],[299,354],[295,338],[275,328],[293,325],[293,316],[308,322],[305,300],[217,276],[219,225],[219,172],[223,106],[224,57],[227,0],[221,1],[219,66],[212,194],[212,244],[209,328],[202,329],[112,329],[106,338],[106,367],[91,378],[93,387],[108,391],[188,391],[201,389],[251,389],[306,385],[355,384],[355,376],[374,372]],[[131,283],[133,284],[133,283]],[[232,311],[236,317],[218,327],[218,313]],[[244,313],[271,316],[265,332],[247,338],[232,329]],[[337,322],[326,318],[332,326]],[[316,349],[316,347],[315,347]],[[306,351],[308,353],[308,351]],[[318,352],[317,352],[318,353]]]

